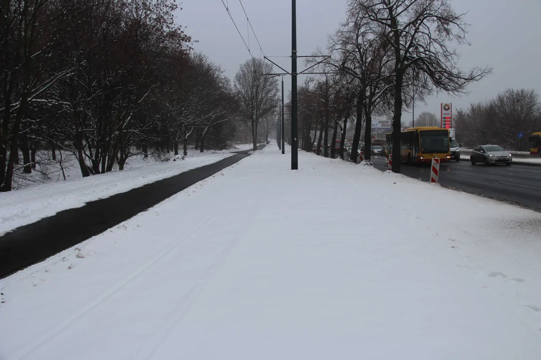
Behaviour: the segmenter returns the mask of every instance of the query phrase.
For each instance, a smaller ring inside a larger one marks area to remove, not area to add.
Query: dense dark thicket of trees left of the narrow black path
[[[239,101],[220,67],[192,51],[176,9],[174,0],[0,0],[2,191],[14,174],[43,171],[46,154],[71,154],[90,176],[134,155],[178,154],[179,143],[184,155],[188,142],[225,146]]]

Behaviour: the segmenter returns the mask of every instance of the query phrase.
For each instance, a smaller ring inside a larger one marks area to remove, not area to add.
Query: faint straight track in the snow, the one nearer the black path
[[[149,270],[151,267],[153,267],[157,262],[159,262],[163,257],[165,257],[167,254],[171,254],[173,250],[181,246],[181,244],[186,243],[186,241],[191,237],[197,230],[199,230],[202,226],[206,225],[210,220],[214,218],[214,216],[219,213],[229,202],[231,196],[228,196],[228,198],[222,202],[222,204],[219,207],[215,207],[215,210],[208,215],[206,218],[204,218],[198,225],[196,225],[192,230],[190,230],[181,240],[173,240],[171,241],[166,247],[162,249],[160,253],[158,253],[156,256],[154,256],[151,260],[146,262],[144,266],[142,266],[140,269],[136,270],[135,273],[131,274],[131,276],[124,277],[124,279],[120,280],[115,286],[111,287],[108,291],[105,291],[102,293],[101,296],[98,296],[95,301],[89,302],[87,306],[83,307],[80,311],[77,311],[72,316],[69,316],[66,318],[60,325],[55,327],[52,332],[49,332],[47,335],[40,338],[34,345],[31,346],[30,349],[25,348],[21,352],[23,352],[22,355],[17,355],[16,359],[24,359],[31,354],[33,354],[36,350],[38,350],[40,347],[42,347],[43,344],[50,341],[51,339],[54,339],[56,336],[62,334],[65,330],[67,330],[72,324],[74,324],[77,320],[80,320],[80,318],[84,317],[88,313],[90,313],[91,310],[95,309],[103,303],[104,301],[108,300],[111,296],[113,296],[115,293],[118,292],[118,290],[121,290],[125,286],[127,286],[129,283],[133,282],[137,277],[144,274],[147,270]]]

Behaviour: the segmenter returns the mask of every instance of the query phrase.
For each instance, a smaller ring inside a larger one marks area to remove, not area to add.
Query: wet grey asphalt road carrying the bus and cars
[[[372,164],[387,169],[385,157],[372,157]],[[407,166],[401,171],[411,178],[430,180],[430,166]],[[520,165],[471,165],[470,161],[451,161],[440,165],[441,185],[490,198],[517,202],[541,210],[541,167]]]

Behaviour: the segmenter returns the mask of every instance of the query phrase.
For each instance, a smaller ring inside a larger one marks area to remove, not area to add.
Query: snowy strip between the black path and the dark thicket
[[[199,150],[190,150],[184,160],[181,156],[171,155],[171,159],[165,162],[137,157],[130,159],[123,171],[88,178],[83,178],[80,169],[72,166],[67,170],[67,181],[49,181],[0,193],[0,235],[61,210],[81,207],[85,202],[107,198],[196,167],[212,164],[233,155],[230,151],[250,148],[251,144],[225,151],[209,150],[201,153]]]

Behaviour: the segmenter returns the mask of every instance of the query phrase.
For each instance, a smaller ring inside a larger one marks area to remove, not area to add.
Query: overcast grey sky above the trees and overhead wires
[[[245,40],[248,40],[246,17],[239,0],[223,0],[232,13]],[[291,55],[291,0],[241,0],[266,56]],[[493,66],[493,73],[470,85],[470,95],[451,98],[440,94],[415,105],[415,114],[436,113],[439,104],[451,101],[453,108],[490,99],[508,87],[535,89],[541,93],[541,46],[539,45],[539,0],[452,0],[457,12],[468,12],[465,21],[471,24],[468,39],[472,46],[459,47],[463,57],[460,66]],[[199,43],[195,50],[206,53],[220,64],[233,81],[239,65],[249,58],[248,50],[237,33],[221,0],[184,0],[177,12],[177,22],[187,26],[186,32]],[[297,0],[297,42],[299,55],[310,55],[316,47],[325,47],[328,35],[338,29],[345,18],[346,0]],[[260,56],[252,32],[250,49]],[[291,59],[278,58],[278,64],[291,69]],[[299,62],[299,70],[304,69]],[[278,71],[278,69],[276,69]],[[301,84],[303,77],[299,78]],[[291,81],[285,78],[286,95]],[[411,120],[403,114],[403,121]]]

